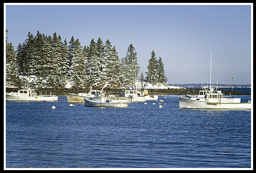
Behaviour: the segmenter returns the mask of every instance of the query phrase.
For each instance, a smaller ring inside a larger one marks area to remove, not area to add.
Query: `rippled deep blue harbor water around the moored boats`
[[[7,101],[6,167],[251,167],[251,111],[185,110],[172,108],[178,96],[160,99],[164,108]]]

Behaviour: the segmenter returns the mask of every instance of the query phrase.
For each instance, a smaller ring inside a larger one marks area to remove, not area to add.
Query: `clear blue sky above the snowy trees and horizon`
[[[57,33],[82,46],[110,40],[119,59],[129,44],[140,72],[152,50],[163,59],[169,84],[251,84],[251,5],[6,5],[8,42],[14,47],[28,31]]]

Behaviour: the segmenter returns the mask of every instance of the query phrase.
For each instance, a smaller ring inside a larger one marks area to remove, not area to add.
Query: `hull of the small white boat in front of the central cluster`
[[[94,106],[94,107],[114,107],[114,108],[122,108],[128,107],[128,105],[132,102],[112,102],[111,100],[108,103],[105,102],[97,102],[92,101],[90,98],[85,98],[85,106]]]

